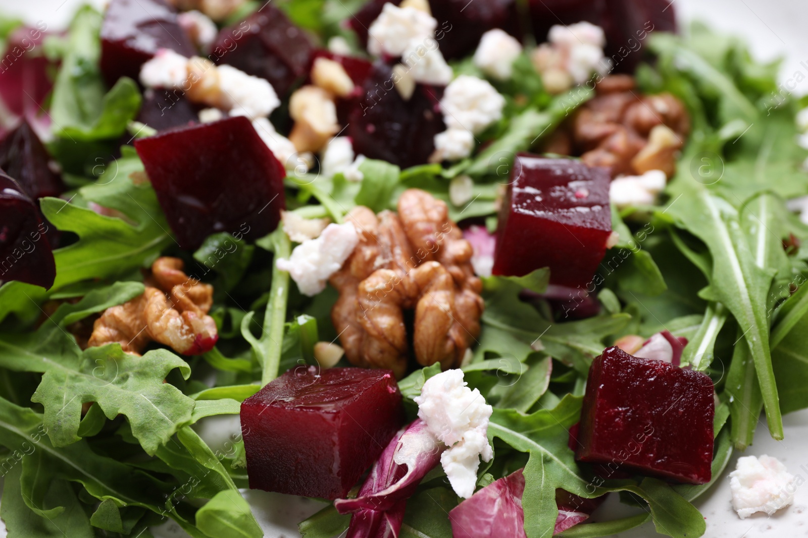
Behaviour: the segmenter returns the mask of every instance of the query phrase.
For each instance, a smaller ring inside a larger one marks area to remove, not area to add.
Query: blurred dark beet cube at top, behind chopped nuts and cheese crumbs
[[[280,98],[308,73],[314,46],[305,32],[271,5],[223,28],[213,45],[218,64],[266,78]]]

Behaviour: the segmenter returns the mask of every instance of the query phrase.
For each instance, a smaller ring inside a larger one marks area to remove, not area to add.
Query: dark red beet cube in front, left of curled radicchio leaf
[[[393,372],[289,370],[242,403],[250,487],[345,497],[401,427]]]

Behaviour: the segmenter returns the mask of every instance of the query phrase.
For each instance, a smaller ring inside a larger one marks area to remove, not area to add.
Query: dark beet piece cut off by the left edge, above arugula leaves
[[[0,281],[53,286],[56,264],[47,231],[31,198],[0,170]]]

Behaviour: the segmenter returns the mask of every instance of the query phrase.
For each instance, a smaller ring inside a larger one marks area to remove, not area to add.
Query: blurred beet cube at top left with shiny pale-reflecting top
[[[101,72],[107,84],[138,80],[141,65],[161,48],[193,56],[196,48],[165,0],[112,0],[101,26]]]

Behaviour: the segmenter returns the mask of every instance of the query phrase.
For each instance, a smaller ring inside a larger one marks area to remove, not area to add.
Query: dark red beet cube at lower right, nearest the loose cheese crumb
[[[705,484],[714,412],[705,373],[607,348],[589,369],[575,458]]]

